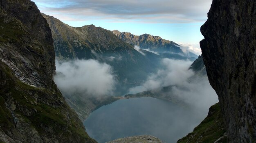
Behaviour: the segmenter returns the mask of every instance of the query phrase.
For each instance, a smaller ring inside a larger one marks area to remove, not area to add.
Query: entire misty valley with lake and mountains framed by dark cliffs
[[[218,102],[202,56],[183,52],[173,41],[94,25],[74,28],[42,15],[54,37],[54,80],[90,137],[99,143],[141,134],[175,142],[191,132],[209,106]],[[140,115],[132,110],[135,108]],[[165,109],[168,114],[160,112]],[[157,126],[155,114],[166,126]],[[176,120],[188,124],[181,126]]]

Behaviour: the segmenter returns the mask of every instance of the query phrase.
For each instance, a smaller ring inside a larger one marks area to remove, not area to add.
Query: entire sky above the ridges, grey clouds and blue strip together
[[[148,33],[198,45],[212,0],[34,0],[41,12],[70,26]]]

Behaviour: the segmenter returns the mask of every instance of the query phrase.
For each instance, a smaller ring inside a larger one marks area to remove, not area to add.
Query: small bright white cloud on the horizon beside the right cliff
[[[197,54],[198,56],[202,54],[201,48],[199,43],[193,44],[193,43],[178,43],[180,45],[180,48],[184,53],[193,52]]]

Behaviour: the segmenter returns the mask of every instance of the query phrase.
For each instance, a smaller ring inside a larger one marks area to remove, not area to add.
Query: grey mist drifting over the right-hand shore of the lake
[[[162,60],[163,69],[149,76],[141,86],[130,88],[129,93],[159,91],[159,88],[172,86],[170,92],[167,93],[168,96],[173,96],[205,113],[209,106],[218,102],[218,96],[209,84],[207,76],[195,77],[194,72],[189,69],[191,63],[191,61],[165,58]],[[162,93],[158,92],[158,94]]]

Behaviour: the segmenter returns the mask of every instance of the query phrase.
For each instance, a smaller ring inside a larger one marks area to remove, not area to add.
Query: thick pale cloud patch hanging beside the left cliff
[[[54,81],[66,94],[111,95],[115,89],[112,67],[96,60],[56,61]]]

